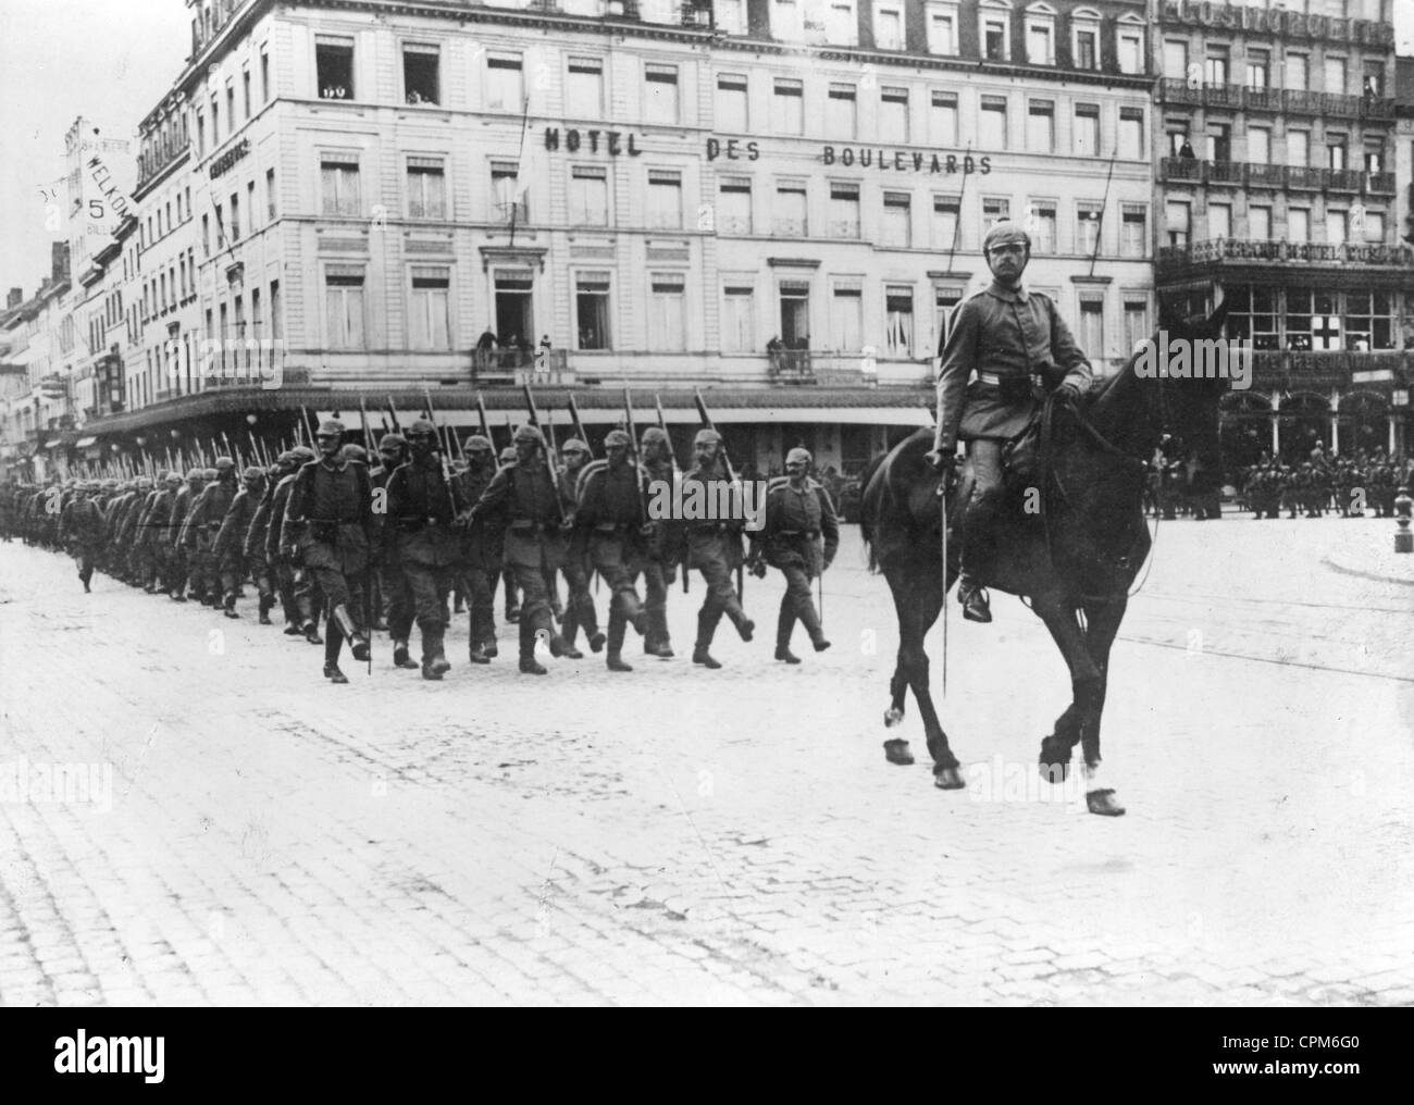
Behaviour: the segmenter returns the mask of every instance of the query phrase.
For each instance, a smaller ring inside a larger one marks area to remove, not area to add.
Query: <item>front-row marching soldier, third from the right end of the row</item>
[[[626,625],[632,625],[639,636],[648,634],[648,615],[633,586],[633,577],[641,571],[646,551],[649,527],[643,503],[648,497],[648,473],[629,461],[631,441],[622,430],[608,432],[604,438],[608,459],[594,461],[584,468],[580,478],[580,506],[574,516],[577,528],[588,538],[590,560],[612,592],[607,656],[609,671],[633,670],[622,657]]]

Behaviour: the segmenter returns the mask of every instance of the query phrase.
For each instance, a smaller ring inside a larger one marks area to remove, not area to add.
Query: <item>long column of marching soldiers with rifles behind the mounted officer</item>
[[[580,633],[591,651],[605,653],[609,671],[632,671],[624,660],[628,627],[643,639],[645,656],[672,658],[667,596],[679,569],[684,589],[697,571],[707,591],[694,664],[721,667],[710,647],[724,616],[752,640],[755,623],[738,593],[742,568],[764,577],[769,565],[785,577],[776,660],[800,663],[790,651],[797,622],[816,651],[830,646],[812,584],[834,558],[839,523],[805,449],[792,449],[785,473],[768,482],[764,528],[747,533],[744,516],[660,520],[646,512],[658,482],[708,485],[707,500],[734,482],[710,428],[696,435],[686,473],[658,427],[642,434],[636,454],[629,434],[609,431],[601,459],[580,438],[556,454],[533,425],[522,425],[499,458],[474,434],[457,461],[447,455],[450,432],[426,418],[406,434],[385,434],[373,458],[346,442],[337,421],[314,439],[317,451],[301,445],[269,468],[240,471],[222,456],[185,473],[10,482],[0,486],[0,538],[72,555],[85,591],[99,571],[232,619],[242,616],[250,585],[259,623],[274,625],[279,608],[287,636],[324,646],[324,675],[334,682],[348,681],[344,643],[368,660],[373,632],[389,633],[393,666],[443,678],[454,613],[469,619],[468,661],[491,663],[498,586],[505,620],[519,626],[525,674],[546,674],[544,651],[583,658]],[[595,574],[609,592],[607,633],[591,593]],[[414,626],[420,663],[410,656]]]

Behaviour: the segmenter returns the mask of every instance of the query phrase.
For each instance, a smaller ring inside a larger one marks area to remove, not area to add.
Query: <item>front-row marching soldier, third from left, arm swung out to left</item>
[[[519,616],[520,671],[544,675],[546,668],[534,658],[536,637],[546,634],[550,654],[564,656],[564,640],[554,632],[550,616],[544,572],[559,571],[564,564],[574,503],[564,502],[563,489],[546,462],[539,430],[522,425],[515,434],[515,449],[516,459],[496,472],[477,504],[464,514],[464,524],[474,524],[488,512],[505,507],[505,567],[515,574],[523,596]]]

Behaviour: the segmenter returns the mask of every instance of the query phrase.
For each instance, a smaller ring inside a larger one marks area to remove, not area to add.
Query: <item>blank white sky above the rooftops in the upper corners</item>
[[[1414,0],[1394,0],[1398,52],[1414,55]],[[79,114],[134,138],[191,45],[184,0],[0,0],[0,302],[48,274],[40,189],[64,175]],[[62,206],[62,205],[61,205]]]

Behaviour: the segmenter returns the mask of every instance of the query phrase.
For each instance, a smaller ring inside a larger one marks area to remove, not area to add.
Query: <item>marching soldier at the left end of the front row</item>
[[[373,530],[373,488],[368,468],[339,455],[344,424],[324,422],[314,435],[320,459],[296,473],[284,507],[283,550],[312,572],[324,593],[328,639],[324,677],[348,682],[339,651],[348,639],[355,660],[368,660],[363,615],[365,574]]]

